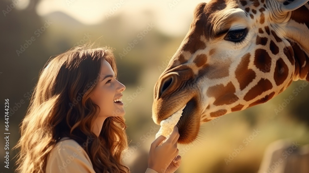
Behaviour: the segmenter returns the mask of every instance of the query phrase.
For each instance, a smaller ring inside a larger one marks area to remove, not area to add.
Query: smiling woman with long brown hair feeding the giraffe
[[[40,72],[21,125],[18,171],[130,172],[122,164],[128,148],[122,92],[116,61],[107,47],[74,47],[51,58]],[[154,140],[147,173],[174,172],[178,129],[162,145]],[[177,156],[177,157],[176,157]]]

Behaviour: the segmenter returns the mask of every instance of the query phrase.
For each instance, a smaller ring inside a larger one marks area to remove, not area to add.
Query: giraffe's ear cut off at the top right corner
[[[277,2],[281,12],[289,12],[303,6],[308,0],[277,0]]]

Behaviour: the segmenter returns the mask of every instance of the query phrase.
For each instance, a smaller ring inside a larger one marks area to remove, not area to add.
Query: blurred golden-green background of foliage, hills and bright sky
[[[194,7],[201,1],[135,0],[122,1],[120,7],[117,7],[120,1],[17,2],[19,5],[10,11],[9,6],[13,6],[13,1],[0,1],[3,13],[0,17],[1,99],[9,98],[11,108],[16,106],[15,111],[11,110],[10,117],[10,149],[20,137],[19,124],[43,65],[49,57],[90,39],[91,42],[96,41],[114,49],[118,78],[126,86],[123,101],[126,103],[130,150],[125,154],[124,162],[133,173],[144,172],[150,144],[159,130],[159,126],[151,119],[154,84],[186,35]],[[112,9],[116,11],[112,13]],[[98,15],[91,16],[92,13]],[[35,31],[43,27],[46,21],[51,24],[37,37]],[[140,40],[138,34],[144,32],[151,23],[154,27]],[[20,50],[21,45],[26,44],[26,40],[32,36],[35,41],[18,55],[16,50]],[[135,39],[138,44],[125,56],[120,56],[119,53],[124,53],[123,49]],[[302,84],[303,81],[293,82],[286,91],[267,103],[203,124],[197,142],[179,145],[183,161],[177,172],[256,172],[269,143],[285,138],[300,144],[309,143],[309,87],[305,86],[298,95],[295,94],[295,89]],[[293,100],[285,105],[285,99],[290,96]],[[276,113],[274,110],[282,104],[285,107]],[[4,118],[0,122],[4,124]],[[244,143],[255,129],[260,133]],[[8,171],[4,168],[2,157],[5,144],[3,137],[0,138],[0,144],[1,170],[14,172],[15,160],[12,158],[16,151],[10,152]],[[243,150],[226,164],[225,159],[229,159],[229,154],[240,145],[244,146]]]

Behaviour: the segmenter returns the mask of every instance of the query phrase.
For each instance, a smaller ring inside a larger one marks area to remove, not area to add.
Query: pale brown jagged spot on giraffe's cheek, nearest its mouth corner
[[[229,82],[226,86],[223,84],[211,86],[207,90],[206,94],[208,97],[214,97],[216,99],[214,101],[214,105],[220,106],[236,102],[239,98],[234,93],[235,86],[232,84],[232,82]]]

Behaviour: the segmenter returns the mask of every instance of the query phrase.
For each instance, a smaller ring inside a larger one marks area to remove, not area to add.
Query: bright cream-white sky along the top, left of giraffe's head
[[[208,2],[209,0],[206,0]],[[122,4],[120,3],[122,2]],[[155,26],[162,32],[179,36],[188,32],[194,8],[202,0],[41,0],[37,6],[40,16],[61,11],[81,23],[91,25],[108,20],[107,15],[125,13],[134,23],[141,23],[143,12],[155,12]],[[115,5],[118,4],[118,7]],[[111,10],[113,10],[112,14]],[[134,20],[132,20],[134,19]]]

